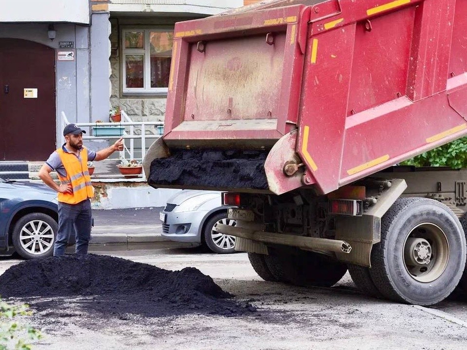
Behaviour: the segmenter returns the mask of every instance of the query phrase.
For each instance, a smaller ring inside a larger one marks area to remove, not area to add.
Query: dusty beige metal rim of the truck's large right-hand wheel
[[[448,265],[448,238],[440,227],[423,223],[407,235],[402,253],[405,268],[414,280],[432,282],[443,274]]]

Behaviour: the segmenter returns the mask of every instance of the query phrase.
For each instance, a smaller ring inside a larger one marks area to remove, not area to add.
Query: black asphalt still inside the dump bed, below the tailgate
[[[268,189],[267,151],[171,150],[154,159],[148,183],[186,187]]]

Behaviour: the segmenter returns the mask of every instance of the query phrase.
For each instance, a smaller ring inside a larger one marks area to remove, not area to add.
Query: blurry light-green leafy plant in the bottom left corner
[[[31,315],[29,305],[15,306],[0,299],[0,350],[31,350],[31,341],[41,338],[38,330],[16,322],[18,316]]]

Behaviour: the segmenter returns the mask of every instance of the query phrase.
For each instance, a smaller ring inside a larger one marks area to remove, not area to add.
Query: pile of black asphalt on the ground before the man
[[[240,316],[255,311],[249,303],[234,300],[196,268],[168,271],[93,254],[14,265],[0,276],[0,296],[26,300],[38,311],[60,307],[64,298],[74,297],[81,310],[101,316]]]

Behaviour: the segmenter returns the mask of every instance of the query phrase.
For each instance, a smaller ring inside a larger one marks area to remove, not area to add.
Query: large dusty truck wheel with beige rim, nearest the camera
[[[399,198],[381,220],[370,276],[384,297],[427,306],[451,294],[465,263],[466,237],[448,207],[428,198]]]

